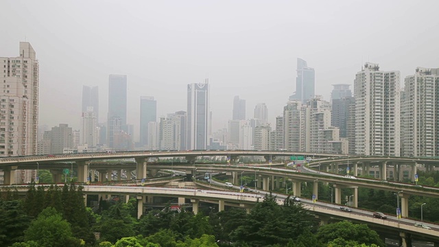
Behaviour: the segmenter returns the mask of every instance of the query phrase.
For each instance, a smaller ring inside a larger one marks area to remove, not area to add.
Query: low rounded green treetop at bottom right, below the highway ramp
[[[358,244],[376,244],[385,246],[377,232],[370,230],[366,224],[353,224],[346,220],[333,224],[320,226],[317,238],[324,243],[329,243],[337,238],[344,241],[355,241]]]

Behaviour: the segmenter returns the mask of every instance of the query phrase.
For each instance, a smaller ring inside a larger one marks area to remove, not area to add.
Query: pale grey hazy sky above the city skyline
[[[128,123],[139,126],[140,96],[158,117],[187,110],[187,84],[209,77],[213,130],[265,102],[269,121],[295,91],[296,58],[316,69],[316,94],[353,85],[361,64],[381,70],[439,67],[439,1],[0,1],[0,56],[27,40],[40,62],[40,125],[80,128],[82,85],[99,86],[108,112],[108,75],[128,75]],[[351,86],[353,90],[353,86]],[[139,134],[136,130],[136,134]]]

